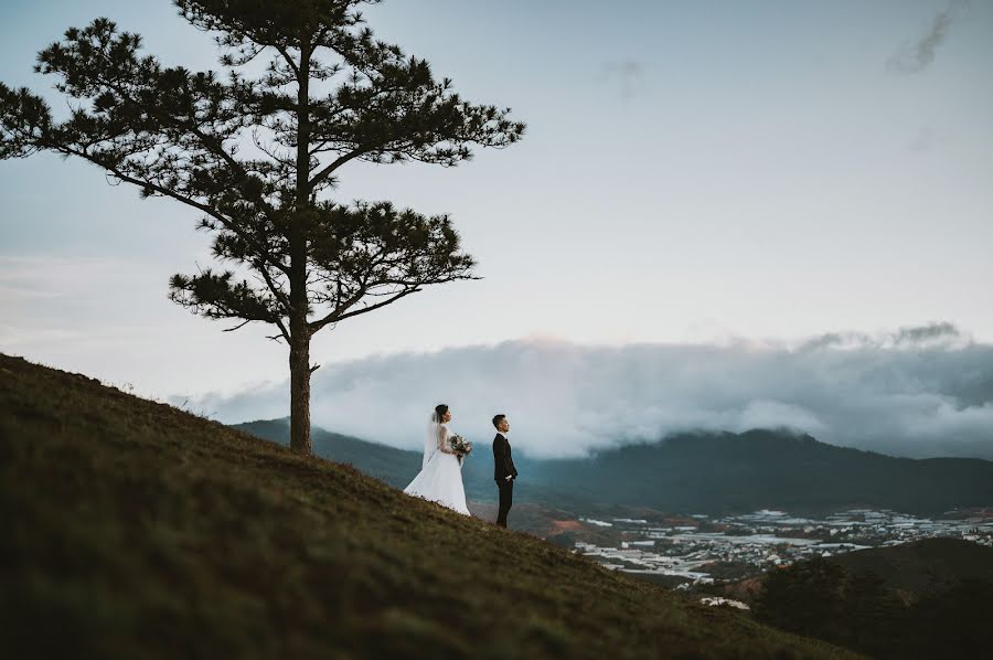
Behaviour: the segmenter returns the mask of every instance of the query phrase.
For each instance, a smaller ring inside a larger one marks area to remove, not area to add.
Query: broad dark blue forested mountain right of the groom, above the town
[[[596,501],[687,513],[865,505],[935,514],[993,503],[993,461],[894,458],[770,430],[683,434],[543,462],[537,476]]]

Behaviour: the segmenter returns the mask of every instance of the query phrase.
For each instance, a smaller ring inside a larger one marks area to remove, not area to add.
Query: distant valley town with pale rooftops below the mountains
[[[740,579],[798,560],[935,536],[993,546],[990,509],[949,511],[936,519],[851,509],[825,518],[761,510],[722,518],[697,514],[670,524],[633,518],[579,521],[587,529],[611,532],[617,542],[611,547],[577,540],[576,552],[617,571],[668,577],[665,582],[677,586]]]

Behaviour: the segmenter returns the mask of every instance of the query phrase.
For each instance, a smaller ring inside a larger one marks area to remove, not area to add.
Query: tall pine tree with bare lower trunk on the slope
[[[234,268],[175,275],[170,298],[209,319],[270,323],[289,348],[291,447],[311,453],[310,340],[425,286],[473,278],[447,215],[329,199],[351,161],[451,167],[524,125],[459,97],[428,63],[374,39],[377,0],[174,0],[218,36],[223,73],[164,67],[107,19],[39,54],[74,109],[56,121],[0,83],[0,159],[82,158],[142,196],[195,209]],[[263,73],[258,63],[265,62]],[[250,279],[249,279],[250,277]]]

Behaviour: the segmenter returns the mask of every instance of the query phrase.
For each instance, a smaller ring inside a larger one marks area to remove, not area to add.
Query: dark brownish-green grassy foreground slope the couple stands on
[[[845,654],[4,355],[0,517],[4,658]]]

